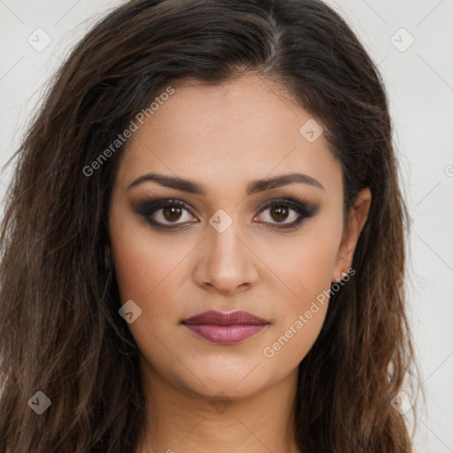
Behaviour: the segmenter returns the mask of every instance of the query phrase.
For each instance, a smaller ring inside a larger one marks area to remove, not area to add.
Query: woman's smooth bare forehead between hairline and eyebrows
[[[130,139],[119,165],[123,187],[151,171],[219,190],[299,171],[327,191],[341,188],[341,168],[324,134],[314,142],[301,134],[313,119],[279,84],[257,75],[217,86],[188,80],[165,99]]]

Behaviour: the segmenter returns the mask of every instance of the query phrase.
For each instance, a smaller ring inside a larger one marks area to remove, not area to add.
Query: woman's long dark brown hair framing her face
[[[403,292],[408,217],[376,65],[318,0],[132,0],[73,49],[13,155],[0,236],[0,452],[136,449],[138,350],[105,265],[111,183],[130,141],[96,159],[173,82],[248,72],[288,88],[323,125],[345,217],[360,189],[372,190],[357,274],[333,292],[299,365],[296,441],[304,452],[411,451],[392,404],[416,368]],[[51,402],[42,415],[29,403],[38,391]]]

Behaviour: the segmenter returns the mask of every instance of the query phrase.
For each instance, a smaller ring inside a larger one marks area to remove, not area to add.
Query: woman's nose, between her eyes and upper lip
[[[201,245],[194,279],[198,286],[216,289],[223,295],[250,288],[258,278],[257,257],[242,240],[235,222],[219,233],[208,226],[207,238]]]

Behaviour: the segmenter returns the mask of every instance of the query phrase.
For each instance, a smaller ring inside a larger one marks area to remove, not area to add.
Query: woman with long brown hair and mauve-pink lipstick
[[[410,452],[391,135],[319,1],[101,20],[16,153],[0,450]]]

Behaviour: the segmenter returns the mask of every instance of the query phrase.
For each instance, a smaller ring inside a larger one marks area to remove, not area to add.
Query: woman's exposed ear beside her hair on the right
[[[372,202],[370,188],[364,188],[357,196],[356,203],[349,212],[348,224],[344,227],[342,243],[337,253],[332,281],[341,278],[342,272],[347,272],[352,265],[352,258],[358,241],[358,236],[368,218]]]

